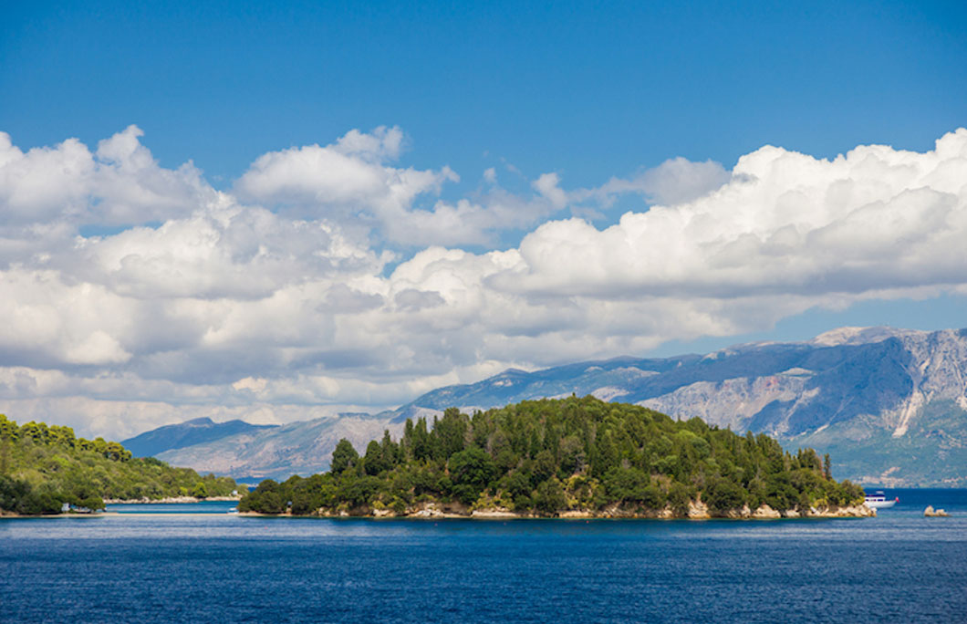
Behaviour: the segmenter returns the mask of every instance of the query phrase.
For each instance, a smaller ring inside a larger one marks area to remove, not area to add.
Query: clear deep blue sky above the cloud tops
[[[403,128],[417,166],[504,158],[572,184],[764,144],[923,150],[963,124],[950,3],[8,3],[22,146],[137,124],[216,183],[270,150]],[[12,27],[13,26],[13,27]],[[487,156],[484,156],[486,154]]]

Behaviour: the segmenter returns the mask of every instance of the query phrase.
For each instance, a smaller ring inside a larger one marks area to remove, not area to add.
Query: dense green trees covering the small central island
[[[698,418],[672,420],[636,405],[585,397],[522,401],[477,412],[457,409],[407,421],[359,455],[347,440],[332,469],[308,479],[267,480],[241,511],[304,515],[373,510],[404,515],[422,503],[503,507],[553,516],[565,510],[685,515],[701,500],[712,515],[748,505],[776,510],[836,507],[863,490],[836,483],[812,449],[792,455],[767,435],[745,436]]]

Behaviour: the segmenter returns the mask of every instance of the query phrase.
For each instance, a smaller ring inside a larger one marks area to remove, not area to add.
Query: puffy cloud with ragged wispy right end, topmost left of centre
[[[282,206],[303,218],[365,223],[397,245],[483,245],[503,229],[531,226],[565,208],[567,193],[555,173],[533,183],[535,195],[521,197],[490,189],[471,200],[420,201],[438,195],[459,176],[449,166],[438,170],[396,167],[404,138],[398,128],[372,133],[352,131],[326,146],[308,145],[258,158],[236,182],[243,200]],[[496,172],[484,171],[496,184]]]

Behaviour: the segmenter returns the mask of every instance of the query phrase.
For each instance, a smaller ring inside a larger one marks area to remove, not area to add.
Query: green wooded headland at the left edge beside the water
[[[198,476],[154,458],[132,459],[117,442],[75,437],[70,427],[17,424],[0,414],[0,510],[54,514],[68,503],[103,509],[104,498],[217,496],[235,482]]]

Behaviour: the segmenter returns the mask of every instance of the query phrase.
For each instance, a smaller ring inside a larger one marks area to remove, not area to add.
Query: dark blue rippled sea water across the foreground
[[[869,520],[0,520],[0,619],[967,621],[967,490],[886,493]]]

